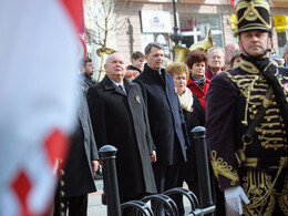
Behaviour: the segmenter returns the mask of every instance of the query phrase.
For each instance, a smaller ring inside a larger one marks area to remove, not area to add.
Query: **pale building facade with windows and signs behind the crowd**
[[[270,6],[274,49],[281,55],[282,47],[288,41],[288,0],[270,0]],[[167,56],[173,58],[173,0],[119,0],[115,11],[115,23],[122,24],[115,28],[115,37],[110,44],[123,53],[127,62],[132,52],[143,52],[152,41],[162,43]],[[178,0],[176,14],[179,32],[184,35],[182,43],[187,48],[204,40],[209,29],[217,47],[237,42],[234,38],[235,8],[230,0]]]

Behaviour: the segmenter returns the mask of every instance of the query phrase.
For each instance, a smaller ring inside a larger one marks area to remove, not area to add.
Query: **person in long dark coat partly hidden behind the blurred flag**
[[[55,200],[54,216],[69,209],[69,215],[85,216],[88,194],[96,192],[94,173],[99,168],[99,153],[83,88],[75,92],[78,99],[78,124],[71,143]],[[63,205],[62,205],[63,204]]]

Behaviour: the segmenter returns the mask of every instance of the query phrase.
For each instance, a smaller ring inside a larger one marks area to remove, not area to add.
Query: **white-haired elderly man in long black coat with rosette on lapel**
[[[104,69],[106,75],[89,89],[88,102],[97,146],[117,148],[117,183],[124,203],[156,193],[153,142],[141,88],[124,79],[123,56],[113,53]]]

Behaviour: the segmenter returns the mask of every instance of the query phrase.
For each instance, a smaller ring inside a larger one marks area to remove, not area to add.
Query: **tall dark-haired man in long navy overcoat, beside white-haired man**
[[[158,43],[145,48],[147,63],[134,80],[142,88],[148,112],[157,162],[153,164],[158,193],[177,186],[181,163],[186,161],[187,130],[171,74],[162,69],[164,49]]]

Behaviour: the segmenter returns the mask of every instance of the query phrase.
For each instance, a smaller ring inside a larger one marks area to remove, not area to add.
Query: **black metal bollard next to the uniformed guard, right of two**
[[[206,130],[203,126],[196,126],[191,131],[195,141],[198,182],[200,187],[199,200],[202,208],[213,205],[205,131]]]

